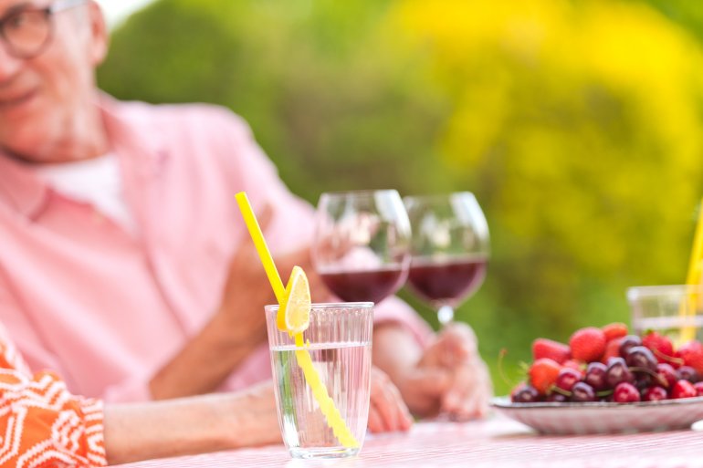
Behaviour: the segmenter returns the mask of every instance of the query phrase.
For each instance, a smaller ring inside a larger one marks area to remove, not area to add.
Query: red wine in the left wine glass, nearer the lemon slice
[[[403,285],[405,271],[398,265],[380,270],[326,271],[320,276],[325,285],[344,301],[378,304]]]

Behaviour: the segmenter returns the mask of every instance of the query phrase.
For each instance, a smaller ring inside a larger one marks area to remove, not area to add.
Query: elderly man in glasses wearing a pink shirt
[[[94,70],[108,41],[94,2],[0,0],[0,38],[0,321],[30,368],[107,401],[267,379],[262,310],[275,298],[234,193],[270,212],[282,275],[301,265],[320,301],[310,206],[229,111],[101,94]],[[488,376],[468,328],[433,337],[387,300],[373,360],[418,415],[485,409]],[[389,403],[395,389],[376,387],[370,425],[407,427]]]

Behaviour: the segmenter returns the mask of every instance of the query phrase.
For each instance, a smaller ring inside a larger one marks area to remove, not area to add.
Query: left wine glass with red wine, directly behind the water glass
[[[410,222],[397,191],[326,192],[315,214],[312,263],[348,302],[381,302],[404,285]]]

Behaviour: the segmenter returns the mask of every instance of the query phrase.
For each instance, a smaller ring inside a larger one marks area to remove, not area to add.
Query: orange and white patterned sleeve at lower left
[[[0,468],[105,464],[102,402],[50,372],[32,376],[0,326]]]

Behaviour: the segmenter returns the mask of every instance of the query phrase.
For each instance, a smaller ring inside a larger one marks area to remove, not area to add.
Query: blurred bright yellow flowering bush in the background
[[[405,0],[387,22],[453,105],[435,145],[488,214],[499,303],[565,333],[626,319],[625,286],[685,280],[703,195],[686,31],[600,0]]]

